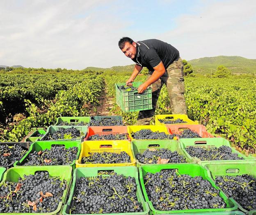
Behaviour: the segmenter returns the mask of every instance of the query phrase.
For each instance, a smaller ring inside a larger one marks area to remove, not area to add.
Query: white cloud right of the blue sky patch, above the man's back
[[[178,48],[184,59],[238,55],[255,59],[256,2],[210,2],[196,15],[178,17],[177,27],[159,38]]]

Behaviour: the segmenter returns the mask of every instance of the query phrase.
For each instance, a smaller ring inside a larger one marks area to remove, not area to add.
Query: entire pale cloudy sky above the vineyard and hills
[[[157,38],[190,60],[256,59],[255,0],[0,0],[0,65],[132,64],[119,38]]]

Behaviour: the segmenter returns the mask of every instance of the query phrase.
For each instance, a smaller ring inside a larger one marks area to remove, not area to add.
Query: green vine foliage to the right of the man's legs
[[[242,148],[256,149],[256,79],[185,80],[188,115]]]

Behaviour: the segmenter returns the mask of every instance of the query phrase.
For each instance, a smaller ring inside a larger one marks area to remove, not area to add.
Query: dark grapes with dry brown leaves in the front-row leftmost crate
[[[0,187],[0,213],[53,212],[64,190],[66,181],[50,177],[48,172],[24,175],[18,183],[5,181]]]

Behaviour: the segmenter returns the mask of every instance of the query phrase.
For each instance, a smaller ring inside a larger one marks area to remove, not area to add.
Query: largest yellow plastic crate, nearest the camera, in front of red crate
[[[95,152],[112,152],[120,153],[126,152],[131,159],[130,163],[85,163],[82,164],[82,157],[89,156],[89,153],[94,154]],[[97,141],[84,141],[81,145],[81,152],[78,160],[75,161],[75,167],[120,167],[120,166],[135,166],[136,159],[133,156],[130,141],[128,140],[97,140]]]

